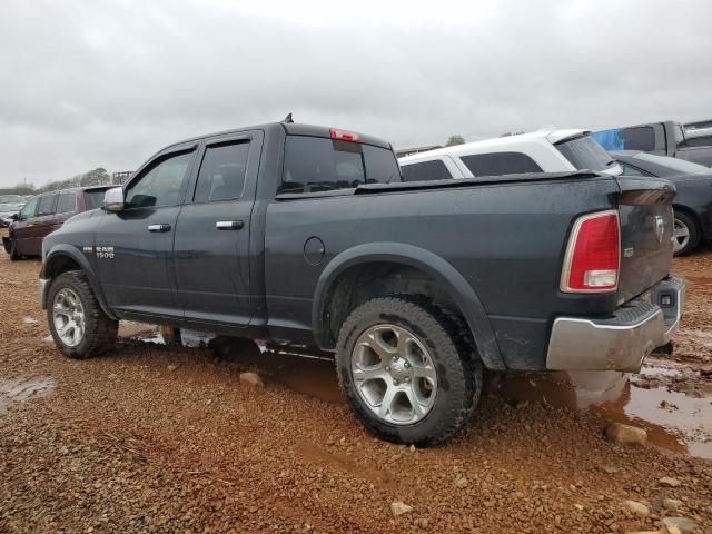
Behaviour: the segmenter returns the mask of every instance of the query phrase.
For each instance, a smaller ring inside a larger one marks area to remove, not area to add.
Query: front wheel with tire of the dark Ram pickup
[[[119,323],[109,318],[83,273],[62,273],[49,289],[47,319],[55,344],[73,359],[86,359],[109,349]]]

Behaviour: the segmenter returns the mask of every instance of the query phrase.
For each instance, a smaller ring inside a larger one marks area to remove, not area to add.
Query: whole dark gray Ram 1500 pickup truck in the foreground
[[[119,319],[333,352],[370,432],[438,443],[483,367],[636,370],[669,342],[674,194],[592,172],[404,184],[387,142],[270,123],[156,154],[44,239],[39,294],[69,357]]]

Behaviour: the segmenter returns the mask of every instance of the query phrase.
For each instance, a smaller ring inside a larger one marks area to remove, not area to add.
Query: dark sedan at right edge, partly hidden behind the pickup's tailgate
[[[611,152],[624,176],[655,176],[675,184],[675,255],[693,250],[712,239],[712,169],[678,158],[624,150]]]

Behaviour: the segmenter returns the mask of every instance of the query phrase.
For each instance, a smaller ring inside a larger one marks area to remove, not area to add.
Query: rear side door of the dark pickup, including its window
[[[247,325],[249,239],[263,132],[212,140],[202,148],[176,225],[174,268],[186,318]]]

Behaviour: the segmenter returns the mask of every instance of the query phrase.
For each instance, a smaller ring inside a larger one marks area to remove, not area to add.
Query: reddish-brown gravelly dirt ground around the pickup
[[[675,260],[690,286],[672,357],[587,390],[490,376],[468,429],[427,449],[366,434],[328,362],[226,363],[132,339],[66,359],[37,304],[39,268],[0,255],[1,533],[609,533],[666,516],[712,533],[712,249]],[[241,384],[246,369],[266,387]],[[652,443],[606,442],[621,418]],[[412,511],[394,516],[396,501]]]

